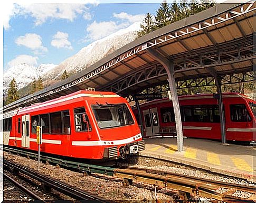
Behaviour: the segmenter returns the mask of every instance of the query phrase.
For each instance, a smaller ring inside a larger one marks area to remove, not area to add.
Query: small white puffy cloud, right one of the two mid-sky
[[[51,45],[57,48],[72,49],[71,43],[68,40],[69,34],[58,31],[51,41]]]

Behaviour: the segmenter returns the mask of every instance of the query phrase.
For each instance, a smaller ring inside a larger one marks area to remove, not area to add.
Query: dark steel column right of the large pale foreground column
[[[222,91],[221,91],[221,77],[217,75],[213,68],[208,68],[210,73],[215,79],[215,84],[217,86],[217,95],[218,95],[218,105],[220,109],[220,121],[221,121],[221,143],[226,144],[226,129],[225,129],[225,115],[222,102]]]

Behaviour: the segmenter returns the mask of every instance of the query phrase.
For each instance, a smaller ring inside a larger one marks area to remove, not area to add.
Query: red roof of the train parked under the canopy
[[[252,98],[250,98],[249,96],[246,96],[244,94],[241,93],[223,93],[222,94],[223,98],[230,98],[230,97],[241,97],[241,98],[245,98],[245,99],[250,99],[253,100]],[[182,96],[178,96],[179,100],[188,100],[188,99],[212,99],[213,98],[213,94],[198,94],[198,95],[182,95]],[[169,100],[168,97],[163,98],[163,99],[155,99],[143,104],[140,104],[140,106],[144,106],[144,105],[150,105],[150,104],[154,104],[160,101],[165,101],[165,100]],[[137,109],[137,107],[134,107],[134,109]]]

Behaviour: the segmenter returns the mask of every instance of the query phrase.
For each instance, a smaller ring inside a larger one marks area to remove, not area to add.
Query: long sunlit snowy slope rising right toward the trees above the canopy
[[[46,73],[43,79],[56,79],[62,75],[64,70],[67,70],[68,73],[78,73],[82,69],[86,69],[101,58],[135,40],[139,29],[140,22],[136,22],[127,28],[120,29],[116,33],[89,44],[77,54],[65,59],[64,62]]]

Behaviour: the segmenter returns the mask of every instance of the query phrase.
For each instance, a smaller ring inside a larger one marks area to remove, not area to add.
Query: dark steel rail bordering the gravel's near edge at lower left
[[[65,194],[69,197],[72,197],[77,200],[93,200],[98,202],[112,202],[105,198],[101,198],[99,196],[93,195],[90,192],[82,191],[80,189],[74,188],[72,186],[69,186],[65,184],[64,182],[61,182],[59,180],[55,180],[53,178],[50,178],[49,176],[42,175],[39,173],[39,171],[32,170],[30,168],[12,163],[11,161],[7,161],[4,159],[4,165],[8,166],[10,168],[15,168],[17,171],[22,172],[23,174],[42,182],[45,184],[45,186],[53,188],[62,194]]]

